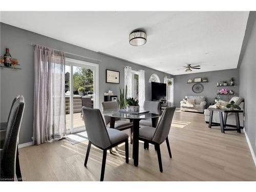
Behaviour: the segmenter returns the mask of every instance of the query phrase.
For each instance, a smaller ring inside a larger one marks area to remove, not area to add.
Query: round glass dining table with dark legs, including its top
[[[114,128],[115,119],[130,119],[130,122],[133,122],[133,159],[134,165],[138,166],[139,164],[139,122],[141,119],[152,119],[152,126],[156,127],[158,122],[158,117],[161,117],[162,111],[148,112],[143,114],[131,114],[120,112],[119,110],[106,110],[102,112],[104,116],[110,117],[110,128]]]

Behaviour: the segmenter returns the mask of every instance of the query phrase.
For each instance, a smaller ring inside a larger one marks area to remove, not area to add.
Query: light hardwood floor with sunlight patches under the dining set
[[[124,146],[106,158],[104,181],[256,181],[256,167],[245,135],[222,134],[208,128],[204,115],[177,110],[169,133],[173,158],[161,144],[163,173],[154,146],[139,144],[139,166],[125,163]],[[66,139],[19,150],[23,177],[28,181],[99,181],[102,151],[91,148],[83,166],[88,141],[72,145]]]

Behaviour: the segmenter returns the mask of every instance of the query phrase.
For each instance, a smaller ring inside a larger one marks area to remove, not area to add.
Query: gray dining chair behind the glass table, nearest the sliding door
[[[118,104],[117,101],[107,101],[107,102],[102,102],[102,111],[107,111],[107,110],[118,110]],[[105,116],[105,122],[106,126],[110,127],[110,117]],[[123,131],[127,129],[130,130],[130,141],[132,143],[132,135],[133,135],[133,123],[129,122],[127,120],[121,120],[119,118],[115,118],[115,126],[114,129]]]

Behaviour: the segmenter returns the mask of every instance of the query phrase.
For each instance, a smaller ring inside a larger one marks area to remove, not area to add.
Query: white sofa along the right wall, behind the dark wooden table
[[[230,101],[232,101],[232,100],[234,100],[235,104],[238,104],[240,106],[241,110],[244,110],[244,102],[242,101],[243,99],[241,97],[232,97],[230,99]],[[209,106],[209,108],[212,108],[212,107],[215,107],[215,105]],[[210,111],[208,109],[206,109],[206,110],[204,110],[204,119],[205,119],[206,123],[209,123],[209,118],[210,118]],[[224,113],[223,113],[223,119],[224,119]],[[244,114],[243,113],[239,113],[239,121],[240,121],[240,126],[243,127],[244,126]],[[220,123],[219,112],[214,111],[214,113],[212,115],[212,122]],[[226,124],[236,126],[236,118],[234,116],[234,113],[228,113]]]

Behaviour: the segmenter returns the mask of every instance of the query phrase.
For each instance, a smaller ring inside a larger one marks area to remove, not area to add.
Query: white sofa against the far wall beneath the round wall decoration
[[[195,99],[195,104],[189,104],[186,102],[186,99]],[[190,112],[199,112],[204,113],[206,109],[205,96],[185,96],[185,99],[180,101],[180,110],[181,111],[190,111]]]

